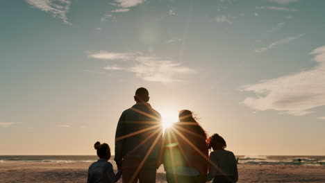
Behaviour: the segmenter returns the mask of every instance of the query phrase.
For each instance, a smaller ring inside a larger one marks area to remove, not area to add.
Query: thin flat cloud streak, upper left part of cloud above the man
[[[100,60],[128,60],[135,53],[114,53],[114,52],[107,52],[107,51],[99,51],[97,53],[90,53],[87,51],[89,58],[96,58]]]

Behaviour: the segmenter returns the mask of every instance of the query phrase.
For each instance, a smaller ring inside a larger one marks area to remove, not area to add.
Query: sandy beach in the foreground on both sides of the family
[[[1,162],[0,182],[87,182],[89,165],[90,163]],[[324,166],[239,164],[238,168],[239,182],[245,183],[325,182]],[[158,170],[156,182],[165,182],[162,167]]]

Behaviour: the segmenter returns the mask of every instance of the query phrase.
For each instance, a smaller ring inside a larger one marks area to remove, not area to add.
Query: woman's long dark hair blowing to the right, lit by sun
[[[203,139],[207,139],[206,131],[197,123],[197,117],[193,116],[190,110],[181,110],[178,114],[180,123],[184,123],[183,127],[199,134]]]

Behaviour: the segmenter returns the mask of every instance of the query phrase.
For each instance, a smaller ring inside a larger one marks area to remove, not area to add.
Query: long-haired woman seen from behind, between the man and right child
[[[167,128],[163,139],[163,164],[167,182],[206,182],[206,132],[189,110],[182,110],[178,117],[179,122]]]

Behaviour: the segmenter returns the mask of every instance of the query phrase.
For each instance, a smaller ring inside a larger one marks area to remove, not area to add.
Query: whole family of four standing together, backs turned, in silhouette
[[[226,148],[219,134],[208,135],[190,110],[181,110],[178,123],[163,132],[159,112],[149,102],[144,87],[136,90],[135,105],[122,112],[115,134],[115,174],[110,147],[97,141],[99,160],[88,170],[88,183],[156,182],[156,171],[163,164],[168,183],[238,182],[235,155]],[[209,149],[213,150],[208,155]]]

